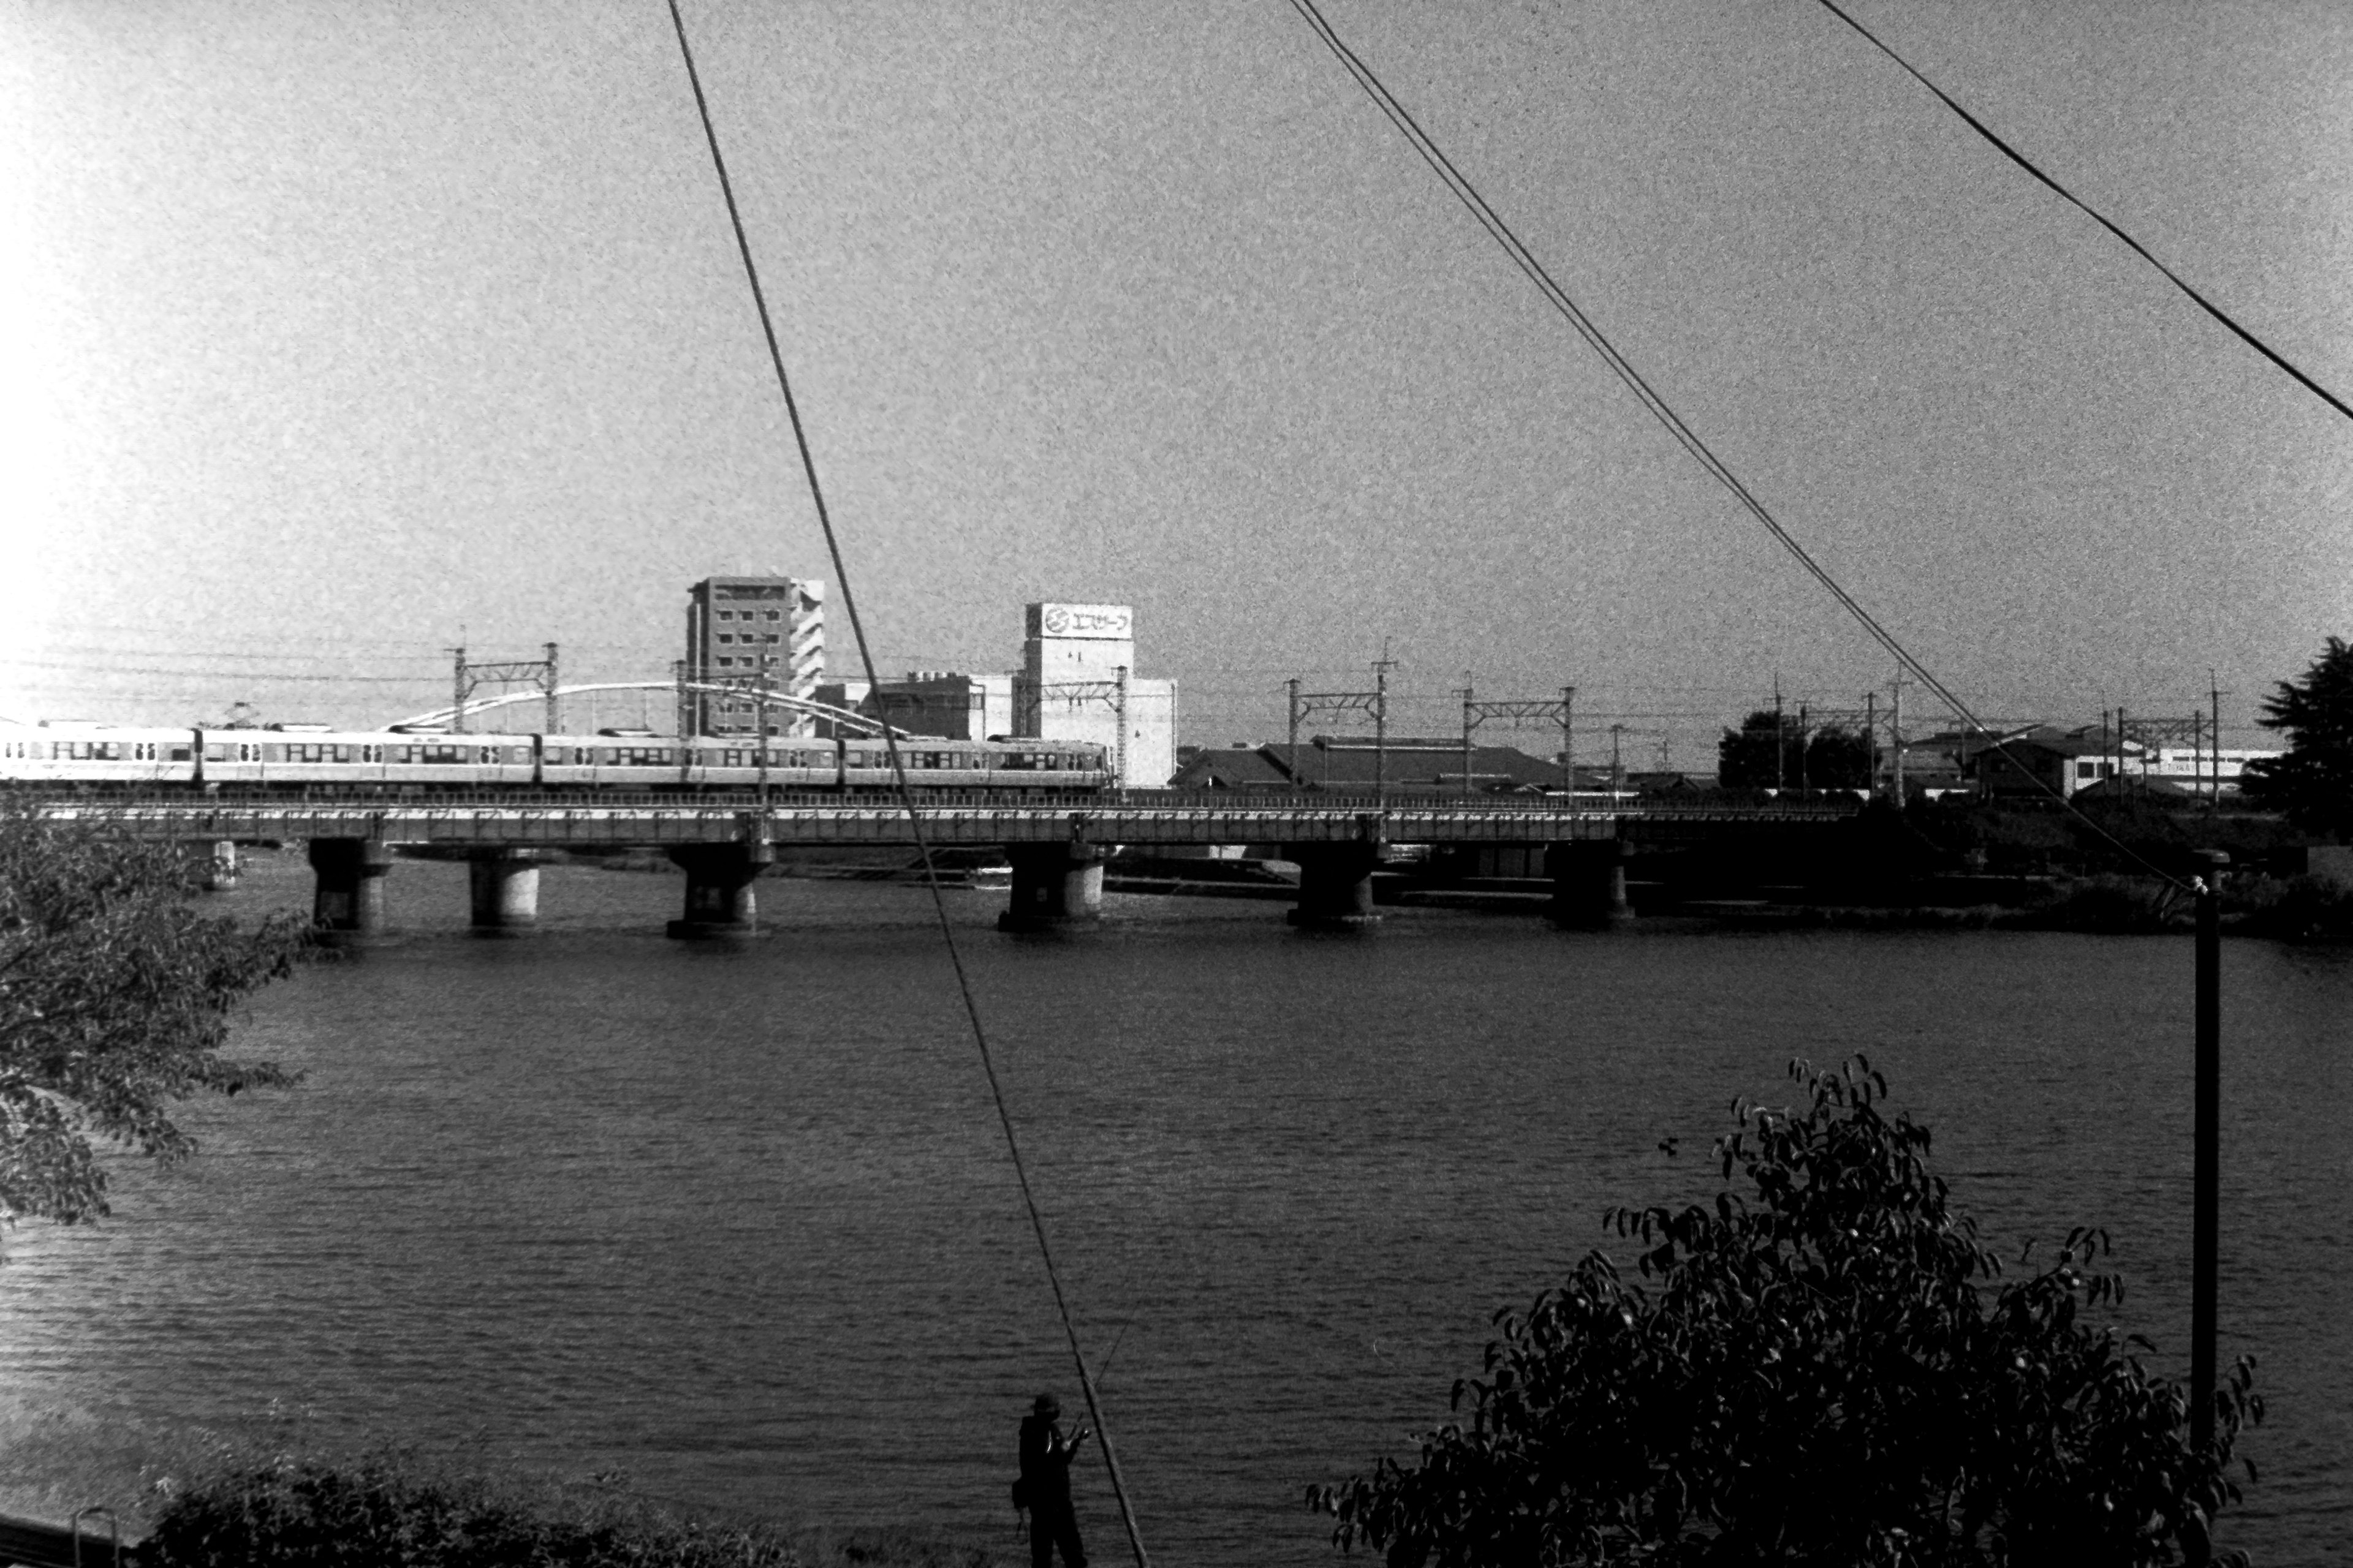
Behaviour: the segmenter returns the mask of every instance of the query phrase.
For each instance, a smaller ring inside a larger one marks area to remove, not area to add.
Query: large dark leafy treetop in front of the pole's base
[[[1802,1112],[1734,1107],[1713,1206],[1621,1208],[1647,1286],[1602,1253],[1499,1314],[1468,1425],[1414,1465],[1311,1488],[1334,1544],[1395,1566],[2177,1561],[2238,1500],[2252,1361],[2217,1389],[2217,1439],[2186,1441],[2188,1394],[2085,1324],[2118,1302],[2078,1229],[2038,1274],[2000,1265],[1946,1206],[1929,1131],[1887,1119],[1885,1081],[1793,1063]],[[2252,1467],[2249,1467],[2252,1474]]]

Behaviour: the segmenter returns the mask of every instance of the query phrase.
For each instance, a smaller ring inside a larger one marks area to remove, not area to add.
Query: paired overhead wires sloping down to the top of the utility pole
[[[1504,249],[1511,263],[1520,268],[1520,273],[1532,284],[1537,284],[1537,292],[1544,294],[1544,299],[1553,306],[1553,310],[1560,313],[1569,322],[1569,327],[1577,329],[1577,336],[1581,336],[1586,346],[1595,355],[1600,355],[1602,364],[1607,364],[1609,371],[1626,386],[1626,390],[1635,395],[1642,409],[1666,428],[1666,433],[1675,440],[1675,444],[1680,444],[1692,456],[1692,461],[1699,463],[1708,473],[1708,477],[1715,480],[1741,505],[1741,510],[1755,517],[1765,527],[1765,531],[1772,534],[1774,541],[1779,541],[1779,545],[1788,552],[1788,557],[1795,559],[1807,571],[1807,576],[1812,576],[1840,604],[1840,609],[1845,609],[1847,616],[1857,625],[1861,625],[1864,632],[1868,632],[1871,639],[1878,642],[1897,661],[1899,668],[1908,670],[1913,679],[1927,686],[1946,708],[1953,710],[1953,715],[1962,724],[1969,726],[1969,731],[1984,736],[1988,743],[1986,750],[1998,752],[2005,762],[2012,764],[2012,769],[2017,769],[2021,778],[2031,780],[2038,790],[2042,790],[2064,809],[2075,813],[2075,818],[2082,820],[2085,827],[2089,827],[2094,835],[2106,839],[2111,849],[2115,849],[2118,853],[2122,853],[2153,877],[2160,877],[2172,889],[2188,891],[2188,884],[2184,884],[2172,872],[2153,865],[2129,844],[2120,842],[2106,827],[2094,823],[2080,806],[2075,806],[2061,790],[2054,790],[2033,769],[2021,764],[2017,755],[2005,745],[2005,738],[1998,736],[1984,719],[1979,719],[1977,712],[1969,708],[1969,703],[1965,703],[1951,686],[1946,686],[1934,670],[1920,663],[1920,658],[1915,658],[1911,649],[1906,649],[1904,642],[1899,642],[1897,635],[1889,632],[1878,621],[1878,616],[1873,616],[1861,604],[1861,599],[1847,592],[1847,588],[1835,576],[1831,576],[1831,571],[1819,559],[1814,559],[1812,550],[1807,550],[1798,541],[1798,536],[1791,534],[1781,524],[1781,520],[1774,517],[1772,510],[1741,482],[1741,477],[1734,475],[1732,468],[1715,456],[1708,442],[1701,440],[1699,433],[1692,430],[1692,425],[1687,425],[1680,414],[1675,414],[1675,409],[1666,402],[1666,397],[1657,388],[1652,388],[1652,383],[1642,376],[1640,369],[1633,367],[1633,362],[1624,353],[1619,353],[1617,343],[1609,341],[1609,336],[1593,322],[1593,317],[1588,317],[1577,306],[1577,301],[1569,299],[1567,289],[1562,289],[1560,282],[1553,280],[1553,275],[1537,259],[1537,254],[1527,249],[1527,244],[1520,240],[1518,233],[1513,233],[1511,223],[1506,223],[1504,216],[1487,202],[1487,197],[1480,195],[1478,186],[1473,186],[1471,179],[1454,167],[1454,162],[1445,155],[1438,141],[1426,129],[1421,129],[1421,122],[1414,120],[1412,110],[1407,110],[1405,103],[1388,89],[1388,85],[1381,82],[1381,78],[1372,71],[1372,66],[1367,66],[1341,40],[1339,31],[1325,19],[1315,0],[1289,0],[1289,5],[1308,24],[1308,28],[1313,28],[1315,38],[1325,45],[1325,49],[1332,52],[1332,56],[1341,63],[1341,68],[1348,71],[1348,75],[1365,92],[1365,96],[1372,99],[1374,108],[1379,108],[1381,115],[1388,118],[1388,122],[1398,129],[1398,134],[1407,139],[1407,143],[1414,148],[1421,162],[1426,162],[1431,172],[1438,174],[1447,193],[1454,195],[1454,200],[1461,202],[1461,207],[1480,223],[1480,228],[1487,230],[1487,235]]]

